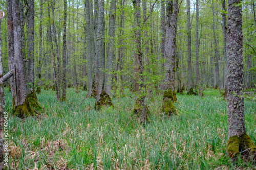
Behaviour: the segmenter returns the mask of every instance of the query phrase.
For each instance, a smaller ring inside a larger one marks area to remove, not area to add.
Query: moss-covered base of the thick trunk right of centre
[[[162,112],[168,115],[177,114],[176,107],[173,104],[174,98],[176,98],[176,92],[174,96],[172,89],[168,89],[163,93],[163,105],[161,108]],[[177,98],[176,98],[176,101],[177,101]]]

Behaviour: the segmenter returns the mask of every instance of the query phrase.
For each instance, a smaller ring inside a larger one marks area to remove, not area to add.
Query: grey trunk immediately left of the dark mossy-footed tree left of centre
[[[89,0],[84,1],[84,6],[86,9],[86,41],[87,41],[87,68],[88,68],[88,94],[87,96],[91,96],[92,94],[92,86],[93,86],[93,63],[92,58],[94,56],[94,49],[91,42],[94,42],[94,28],[93,23],[91,23],[90,16],[90,2]],[[91,29],[93,28],[93,29]],[[92,32],[93,31],[93,32]]]

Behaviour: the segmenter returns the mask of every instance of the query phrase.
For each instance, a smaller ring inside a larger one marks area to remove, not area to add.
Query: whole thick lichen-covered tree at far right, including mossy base
[[[244,86],[243,71],[243,34],[241,0],[228,1],[227,49],[228,49],[228,142],[227,152],[230,158],[253,155],[256,147],[246,134],[244,99],[241,96]]]

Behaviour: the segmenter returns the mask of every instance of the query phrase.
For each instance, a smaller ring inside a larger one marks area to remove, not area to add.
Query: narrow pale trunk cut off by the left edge
[[[0,11],[0,170],[4,169],[4,120],[5,120],[5,91],[2,82],[3,78],[3,62],[1,50],[1,22],[5,13]]]

